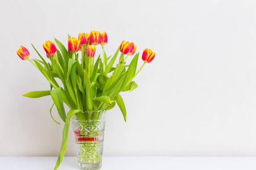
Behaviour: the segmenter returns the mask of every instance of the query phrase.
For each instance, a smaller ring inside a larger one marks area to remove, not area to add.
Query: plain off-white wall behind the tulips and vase
[[[92,29],[108,33],[108,55],[123,40],[156,52],[123,94],[127,123],[108,112],[105,156],[256,156],[256,1],[2,0],[0,23],[0,156],[61,146],[51,97],[22,96],[47,80],[16,50],[39,58],[31,42],[44,56],[45,41]],[[72,133],[66,155],[76,155]]]

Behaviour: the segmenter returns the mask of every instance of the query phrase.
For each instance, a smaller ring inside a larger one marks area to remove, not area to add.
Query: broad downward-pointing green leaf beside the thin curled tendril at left
[[[61,87],[51,91],[52,100],[57,108],[60,118],[65,122],[66,113],[63,105],[63,97],[61,96]]]

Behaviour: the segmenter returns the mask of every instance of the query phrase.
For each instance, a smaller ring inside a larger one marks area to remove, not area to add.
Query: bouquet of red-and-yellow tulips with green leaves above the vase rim
[[[138,87],[133,79],[141,71],[144,64],[150,63],[155,57],[152,50],[144,49],[142,54],[144,63],[137,71],[139,53],[135,54],[137,46],[134,45],[134,42],[123,41],[113,56],[107,56],[104,50],[108,43],[106,32],[91,31],[90,33],[80,33],[79,39],[70,36],[68,38],[68,49],[57,39],[55,42],[59,49],[52,41],[46,41],[43,44],[50,63],[39,54],[34,45],[32,46],[41,60],[30,59],[30,52],[24,46],[20,46],[17,52],[21,59],[28,59],[51,85],[50,90],[31,91],[23,96],[38,98],[51,95],[53,105],[57,108],[61,120],[65,122],[63,142],[55,169],[63,160],[67,147],[71,116],[85,111],[109,110],[117,104],[126,121],[126,108],[120,93],[133,91]],[[101,45],[102,55],[94,59],[97,45]],[[121,52],[120,55],[118,55],[119,52]],[[133,55],[131,62],[127,63],[127,57]],[[114,67],[116,60],[118,62]],[[56,78],[61,80],[61,86],[56,82]],[[64,103],[71,109],[67,114]],[[57,123],[59,124],[59,122]]]

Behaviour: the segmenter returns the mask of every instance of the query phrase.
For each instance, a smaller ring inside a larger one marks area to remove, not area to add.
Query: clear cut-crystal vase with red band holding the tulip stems
[[[105,130],[104,111],[76,113],[72,116],[79,169],[100,169]]]

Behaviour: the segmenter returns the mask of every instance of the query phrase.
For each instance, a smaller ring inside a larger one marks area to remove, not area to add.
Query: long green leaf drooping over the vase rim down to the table
[[[62,144],[61,144],[61,149],[60,149],[60,154],[59,157],[57,159],[57,163],[55,165],[55,170],[60,166],[60,163],[63,160],[67,145],[68,145],[68,129],[69,129],[69,124],[70,124],[70,119],[71,116],[73,114],[79,113],[81,112],[80,110],[73,110],[71,109],[68,114],[67,114],[67,118],[65,120],[65,125],[64,125],[64,129],[63,129],[63,137],[62,137]]]

